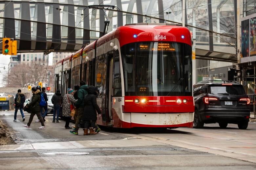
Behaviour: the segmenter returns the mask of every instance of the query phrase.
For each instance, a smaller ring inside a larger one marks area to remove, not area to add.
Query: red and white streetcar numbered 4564
[[[98,88],[97,124],[193,127],[190,31],[176,25],[129,24],[59,61],[55,89],[79,80]]]

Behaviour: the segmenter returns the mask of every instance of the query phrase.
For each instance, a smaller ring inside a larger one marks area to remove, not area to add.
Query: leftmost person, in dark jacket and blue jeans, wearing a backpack
[[[25,94],[21,93],[21,90],[18,90],[18,93],[16,94],[14,98],[14,105],[15,105],[15,112],[14,112],[14,120],[13,122],[16,122],[17,120],[17,112],[20,109],[20,113],[22,116],[22,122],[25,121],[25,116],[23,113],[23,107],[24,107],[24,102],[25,102]]]

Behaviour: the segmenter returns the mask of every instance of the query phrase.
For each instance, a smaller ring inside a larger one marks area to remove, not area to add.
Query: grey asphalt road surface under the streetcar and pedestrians
[[[5,115],[1,115],[5,114]],[[0,119],[14,130],[16,145],[0,146],[0,169],[256,169],[256,123],[247,130],[237,125],[221,129],[208,124],[203,129],[102,129],[97,135],[69,133],[65,122],[46,129],[40,123],[23,127],[21,115],[13,122],[12,112]],[[29,115],[26,114],[26,121]],[[70,124],[74,125],[74,124]],[[18,147],[19,146],[19,147]],[[88,155],[45,155],[52,152],[88,152]]]

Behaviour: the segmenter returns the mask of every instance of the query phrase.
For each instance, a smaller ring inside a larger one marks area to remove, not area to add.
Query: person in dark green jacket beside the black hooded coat
[[[75,122],[75,128],[70,131],[70,133],[75,135],[78,135],[78,129],[79,129],[78,123],[80,118],[83,116],[83,112],[84,112],[84,96],[87,94],[86,89],[89,87],[88,85],[86,85],[85,81],[83,80],[79,81],[79,85],[80,85],[80,88],[77,92],[78,99],[75,102],[75,108],[78,110],[77,118]]]

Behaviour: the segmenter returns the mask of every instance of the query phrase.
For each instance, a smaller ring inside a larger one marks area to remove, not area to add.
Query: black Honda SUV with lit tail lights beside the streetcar
[[[195,99],[194,127],[204,123],[228,123],[246,129],[250,117],[250,99],[236,81],[201,81],[193,86]]]

